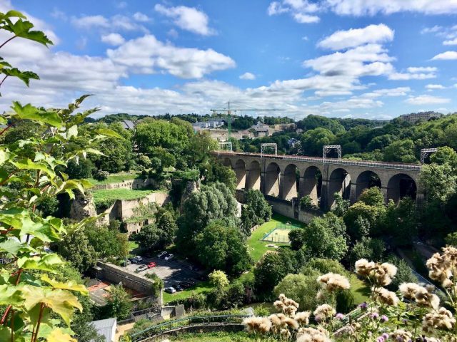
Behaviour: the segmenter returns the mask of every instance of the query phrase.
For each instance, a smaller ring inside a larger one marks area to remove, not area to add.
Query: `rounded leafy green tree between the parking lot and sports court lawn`
[[[240,274],[251,266],[241,232],[221,220],[210,222],[194,241],[197,257],[208,269]]]

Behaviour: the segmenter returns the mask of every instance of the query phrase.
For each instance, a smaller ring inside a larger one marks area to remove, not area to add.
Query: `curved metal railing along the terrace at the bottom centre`
[[[146,338],[150,338],[164,331],[174,330],[176,328],[186,328],[194,324],[204,323],[210,325],[211,323],[240,323],[244,318],[250,317],[248,315],[214,315],[214,316],[190,316],[185,318],[174,319],[165,323],[150,326],[137,333],[130,335],[132,342],[139,342]]]

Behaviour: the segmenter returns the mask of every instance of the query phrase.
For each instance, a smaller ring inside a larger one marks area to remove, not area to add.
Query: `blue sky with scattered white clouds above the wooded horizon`
[[[208,113],[229,100],[295,118],[457,110],[456,1],[2,1],[8,9],[55,45],[2,48],[41,81],[5,82],[0,109],[93,93],[95,116]]]

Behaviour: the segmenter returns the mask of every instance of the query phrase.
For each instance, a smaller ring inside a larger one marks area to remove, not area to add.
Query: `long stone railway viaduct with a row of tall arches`
[[[320,197],[322,210],[331,208],[335,193],[353,203],[372,186],[381,188],[386,202],[404,196],[423,199],[421,165],[243,152],[218,152],[218,157],[235,171],[238,190],[256,189],[291,202],[308,195],[314,204]]]

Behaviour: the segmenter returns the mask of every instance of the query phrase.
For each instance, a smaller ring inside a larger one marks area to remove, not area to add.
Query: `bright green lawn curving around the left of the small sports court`
[[[286,222],[291,222],[293,224],[301,224],[298,221],[293,219],[289,219],[288,217],[282,216],[280,214],[273,214],[273,217],[270,221],[261,224],[256,230],[253,231],[251,237],[248,237],[247,244],[248,244],[248,252],[251,255],[254,262],[260,260],[263,254],[266,251],[273,251],[274,248],[266,247],[267,244],[271,242],[262,241],[261,239],[263,236],[270,232],[271,229],[276,228],[278,224],[285,224]],[[277,246],[288,246],[288,244],[281,244],[281,243],[274,243]]]

